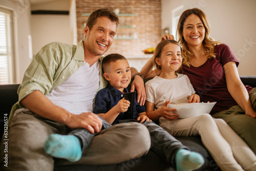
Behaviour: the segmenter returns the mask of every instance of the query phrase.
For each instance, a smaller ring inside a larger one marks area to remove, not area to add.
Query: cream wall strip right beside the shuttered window
[[[30,35],[30,3],[24,1],[17,3],[14,1],[1,1],[0,6],[13,12],[14,28],[14,58],[15,58],[15,80],[13,83],[22,81],[24,72],[29,66],[29,40]]]

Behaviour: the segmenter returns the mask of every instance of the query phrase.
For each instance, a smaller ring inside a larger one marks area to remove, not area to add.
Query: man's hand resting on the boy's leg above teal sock
[[[85,112],[79,115],[71,114],[71,116],[65,124],[71,127],[72,129],[87,129],[90,133],[94,134],[100,132],[102,120],[98,117],[98,115],[92,112]]]

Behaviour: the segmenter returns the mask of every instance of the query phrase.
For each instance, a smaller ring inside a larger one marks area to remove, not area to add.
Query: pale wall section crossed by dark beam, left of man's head
[[[69,11],[70,0],[33,4],[31,10]],[[73,44],[69,15],[31,15],[33,55],[52,41]]]

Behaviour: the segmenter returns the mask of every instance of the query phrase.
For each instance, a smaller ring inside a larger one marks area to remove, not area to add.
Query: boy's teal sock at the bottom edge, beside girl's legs
[[[175,157],[177,171],[189,171],[201,167],[204,164],[204,158],[196,152],[190,152],[187,149],[180,149]]]

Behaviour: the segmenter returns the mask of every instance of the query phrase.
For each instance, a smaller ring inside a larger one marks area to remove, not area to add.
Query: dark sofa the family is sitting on
[[[241,76],[241,80],[245,85],[256,87],[256,76]],[[19,84],[0,85],[0,135],[2,138],[4,132],[4,114],[10,113],[12,105],[18,100],[17,89]],[[204,165],[198,170],[220,170],[214,159],[210,156],[207,149],[202,144],[199,136],[192,137],[176,137],[184,145],[188,146],[191,151],[195,151],[203,155],[205,159]],[[111,157],[111,156],[110,156]],[[150,151],[147,155],[134,160],[125,161],[117,164],[109,165],[69,165],[69,166],[57,166],[55,165],[55,171],[65,170],[174,170],[170,165],[164,162],[155,152]]]

